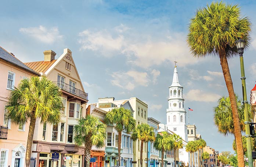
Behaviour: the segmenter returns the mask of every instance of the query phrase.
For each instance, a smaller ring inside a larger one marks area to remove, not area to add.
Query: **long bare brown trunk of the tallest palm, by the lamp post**
[[[240,127],[240,121],[238,116],[237,103],[235,99],[235,92],[234,92],[233,83],[232,83],[232,79],[231,79],[231,75],[228,67],[226,52],[224,48],[219,50],[219,55],[220,55],[220,65],[223,71],[223,75],[224,75],[224,79],[226,82],[228,95],[231,103],[232,117],[234,122],[234,135],[235,135],[235,140],[237,145],[238,166],[244,167],[245,166],[244,151],[243,151],[243,145],[242,145],[242,134],[241,134],[241,127]]]

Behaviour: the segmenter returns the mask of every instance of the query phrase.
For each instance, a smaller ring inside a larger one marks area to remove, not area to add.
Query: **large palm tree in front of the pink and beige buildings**
[[[63,108],[61,92],[45,77],[23,79],[18,87],[10,92],[6,106],[8,119],[14,124],[29,123],[26,147],[26,167],[29,167],[36,119],[41,123],[58,123]]]

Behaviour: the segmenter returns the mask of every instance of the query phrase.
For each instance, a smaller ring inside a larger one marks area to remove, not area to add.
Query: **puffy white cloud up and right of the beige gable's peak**
[[[112,57],[115,53],[120,53],[124,43],[123,35],[112,37],[106,30],[98,32],[84,30],[79,33],[79,36],[78,42],[82,45],[80,49],[99,51],[105,57]]]

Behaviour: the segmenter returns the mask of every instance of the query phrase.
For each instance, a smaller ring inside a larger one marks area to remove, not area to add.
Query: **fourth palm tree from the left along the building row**
[[[140,166],[143,166],[143,157],[142,157],[142,153],[143,153],[143,144],[144,142],[148,142],[148,141],[155,141],[155,132],[154,132],[154,128],[152,126],[149,126],[148,124],[140,124],[137,126],[137,128],[133,131],[133,134],[131,134],[131,139],[132,140],[140,140],[141,144],[140,144]]]

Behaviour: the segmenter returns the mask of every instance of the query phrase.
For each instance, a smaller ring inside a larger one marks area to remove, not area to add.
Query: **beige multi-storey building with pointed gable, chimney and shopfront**
[[[56,60],[56,53],[52,50],[43,54],[43,61],[25,64],[60,88],[64,109],[59,124],[40,124],[37,120],[31,156],[36,157],[36,167],[82,167],[84,149],[75,145],[73,127],[86,114],[88,94],[84,92],[71,50],[64,49]]]

